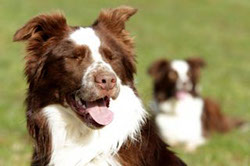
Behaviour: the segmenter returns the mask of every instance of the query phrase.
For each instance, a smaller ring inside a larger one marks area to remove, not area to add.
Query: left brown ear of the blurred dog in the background
[[[154,79],[158,80],[165,74],[169,67],[169,61],[166,59],[159,59],[151,64],[148,68],[148,74]]]

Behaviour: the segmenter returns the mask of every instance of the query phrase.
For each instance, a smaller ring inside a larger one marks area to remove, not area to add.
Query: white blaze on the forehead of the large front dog
[[[102,60],[99,53],[101,40],[96,35],[96,32],[93,28],[80,27],[70,34],[69,39],[72,40],[76,45],[87,46],[90,49],[91,55],[95,61]]]

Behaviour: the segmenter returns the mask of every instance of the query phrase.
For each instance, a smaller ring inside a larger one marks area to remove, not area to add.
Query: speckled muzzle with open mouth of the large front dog
[[[109,103],[111,98],[118,97],[119,92],[116,74],[100,65],[85,74],[81,88],[71,94],[68,103],[89,127],[100,128],[112,122]]]

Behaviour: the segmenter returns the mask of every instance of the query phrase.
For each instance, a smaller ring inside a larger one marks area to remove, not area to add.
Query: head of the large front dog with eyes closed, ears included
[[[20,28],[14,41],[27,41],[25,74],[37,107],[59,103],[92,128],[109,124],[110,99],[120,85],[134,86],[134,47],[125,22],[135,13],[125,6],[103,10],[89,27],[45,14]]]

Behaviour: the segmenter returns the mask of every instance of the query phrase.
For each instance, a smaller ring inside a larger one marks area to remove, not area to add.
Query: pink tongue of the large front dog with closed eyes
[[[103,100],[87,102],[86,111],[90,114],[94,121],[100,125],[108,125],[113,120],[113,112],[106,107]]]

